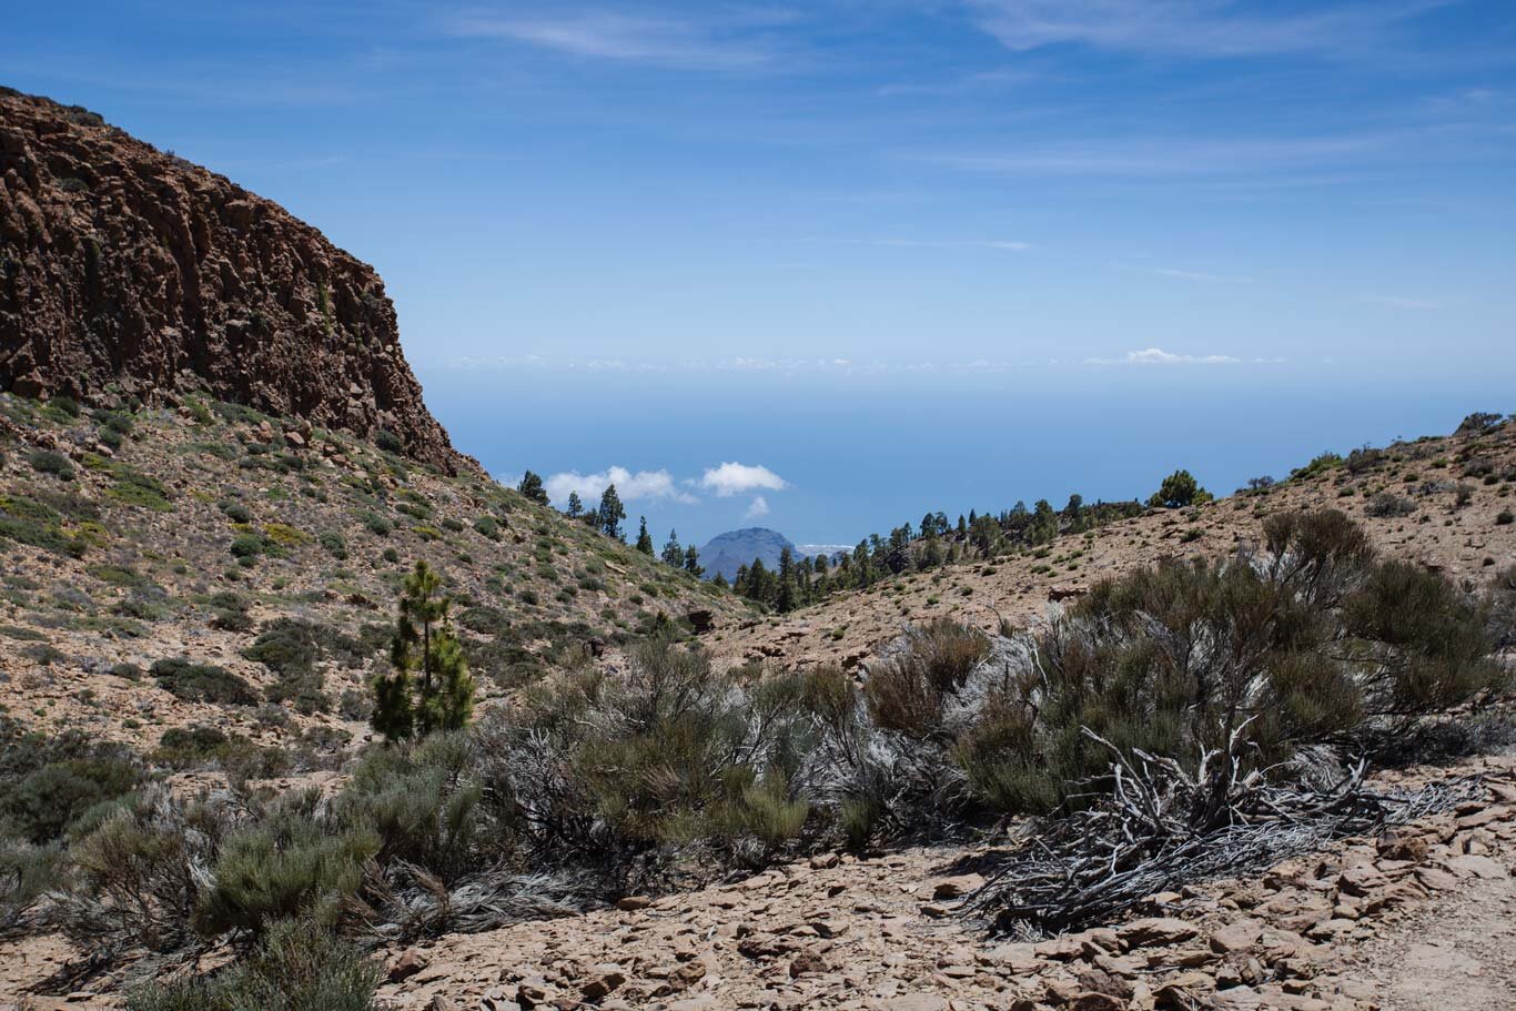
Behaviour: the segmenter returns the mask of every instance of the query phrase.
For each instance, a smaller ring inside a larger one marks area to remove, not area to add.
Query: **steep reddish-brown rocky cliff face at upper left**
[[[202,391],[456,471],[367,264],[223,176],[0,92],[0,388]]]

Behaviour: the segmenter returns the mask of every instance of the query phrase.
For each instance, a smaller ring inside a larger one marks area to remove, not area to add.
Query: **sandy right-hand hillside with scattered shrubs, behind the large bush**
[[[1516,561],[1516,424],[1472,414],[1451,435],[1328,450],[1220,497],[1181,468],[1155,474],[1143,502],[1072,496],[1061,508],[1017,505],[958,523],[928,514],[919,526],[867,538],[825,576],[793,567],[785,596],[799,600],[810,584],[807,603],[776,608],[770,588],[766,617],[719,629],[709,644],[723,662],[838,661],[852,670],[907,626],[1026,626],[1135,565],[1260,544],[1270,515],[1301,509],[1337,509],[1378,550],[1477,591]]]

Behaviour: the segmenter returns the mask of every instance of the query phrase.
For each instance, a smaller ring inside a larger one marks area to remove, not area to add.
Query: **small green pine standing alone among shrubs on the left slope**
[[[390,641],[390,673],[373,679],[376,732],[390,741],[456,731],[473,714],[475,681],[447,611],[452,597],[424,561],[405,579]]]

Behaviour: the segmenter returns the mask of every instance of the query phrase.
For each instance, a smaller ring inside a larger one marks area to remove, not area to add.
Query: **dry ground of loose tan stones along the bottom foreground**
[[[1457,811],[1041,943],[958,914],[975,849],[807,864],[396,952],[396,1008],[1495,1011],[1516,1006],[1516,756]]]

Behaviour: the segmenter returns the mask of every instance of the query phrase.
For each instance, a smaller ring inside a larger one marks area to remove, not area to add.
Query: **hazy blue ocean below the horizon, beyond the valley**
[[[662,544],[746,526],[797,546],[857,544],[926,512],[1001,511],[1072,493],[1145,497],[1187,468],[1216,494],[1284,479],[1322,452],[1448,434],[1516,411],[1511,365],[1414,379],[1363,365],[1043,368],[835,376],[417,368],[453,444],[497,479],[525,470],[667,471],[626,502]],[[719,496],[706,468],[761,465],[785,487]],[[761,502],[755,502],[760,500]],[[593,503],[591,503],[593,505]]]

